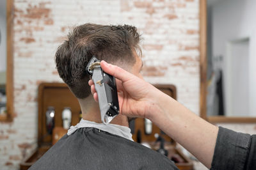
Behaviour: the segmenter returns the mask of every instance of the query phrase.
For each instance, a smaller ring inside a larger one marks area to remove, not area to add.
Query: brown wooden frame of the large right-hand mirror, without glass
[[[209,0],[208,0],[209,1]],[[255,123],[252,117],[207,116],[207,0],[200,0],[200,117],[210,123]]]

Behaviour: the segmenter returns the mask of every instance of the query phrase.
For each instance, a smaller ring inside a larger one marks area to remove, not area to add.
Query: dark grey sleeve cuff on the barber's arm
[[[211,169],[245,169],[251,140],[249,134],[219,127]]]

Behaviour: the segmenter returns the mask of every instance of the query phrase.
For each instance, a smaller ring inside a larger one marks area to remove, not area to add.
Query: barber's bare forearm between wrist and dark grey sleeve
[[[148,112],[148,118],[210,168],[218,127],[164,93],[156,97],[156,101]]]

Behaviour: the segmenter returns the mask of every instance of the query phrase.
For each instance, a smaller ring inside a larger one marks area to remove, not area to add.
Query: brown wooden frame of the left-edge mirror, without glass
[[[0,121],[13,120],[13,0],[6,0],[6,115]]]

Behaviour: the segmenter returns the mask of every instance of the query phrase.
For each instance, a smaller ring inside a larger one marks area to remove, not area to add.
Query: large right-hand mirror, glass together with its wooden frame
[[[200,72],[205,90],[205,97],[201,90],[201,116],[209,121],[256,121],[255,8],[253,0],[200,1]]]

